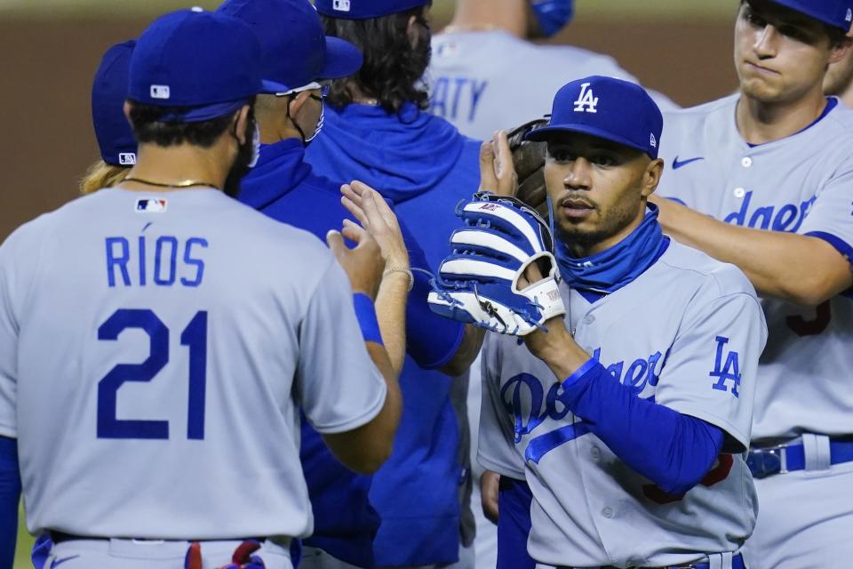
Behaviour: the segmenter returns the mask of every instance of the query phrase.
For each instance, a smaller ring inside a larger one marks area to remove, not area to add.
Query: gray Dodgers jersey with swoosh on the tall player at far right
[[[853,258],[853,112],[839,105],[793,136],[751,147],[737,131],[737,100],[666,114],[658,195],[739,226],[819,236]],[[853,301],[761,304],[769,341],[753,439],[853,433]]]

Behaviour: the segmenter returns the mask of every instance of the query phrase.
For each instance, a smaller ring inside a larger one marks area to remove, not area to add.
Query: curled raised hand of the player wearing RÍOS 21
[[[354,249],[344,244],[344,236],[355,241]],[[350,221],[344,222],[340,232],[329,231],[326,243],[347,273],[353,292],[367,294],[375,301],[382,282],[382,271],[385,270],[385,260],[376,239],[366,229]]]

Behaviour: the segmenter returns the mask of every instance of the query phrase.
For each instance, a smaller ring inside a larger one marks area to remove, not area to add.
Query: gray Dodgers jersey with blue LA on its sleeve
[[[590,303],[562,284],[575,340],[637,397],[749,443],[766,327],[753,287],[731,265],[671,243],[634,282]],[[699,485],[663,493],[561,403],[560,382],[517,339],[490,334],[482,357],[479,459],[526,477],[530,555],[540,563],[661,566],[736,551],[757,501],[741,454],[723,453]]]

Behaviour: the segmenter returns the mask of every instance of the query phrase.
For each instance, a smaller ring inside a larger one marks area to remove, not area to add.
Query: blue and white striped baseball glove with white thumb
[[[514,197],[480,192],[457,215],[465,225],[450,236],[452,252],[432,280],[433,312],[514,336],[565,314],[554,239],[537,212]],[[531,263],[545,277],[519,289]]]

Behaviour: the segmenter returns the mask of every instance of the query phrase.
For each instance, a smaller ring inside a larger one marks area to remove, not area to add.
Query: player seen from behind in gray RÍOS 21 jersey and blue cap
[[[390,452],[395,373],[351,296],[375,295],[378,245],[350,226],[332,255],[218,189],[252,162],[254,96],[283,86],[258,61],[239,20],[156,20],[125,105],[137,164],[0,247],[0,435],[52,566],[290,568],[312,525],[299,409],[350,468]]]

